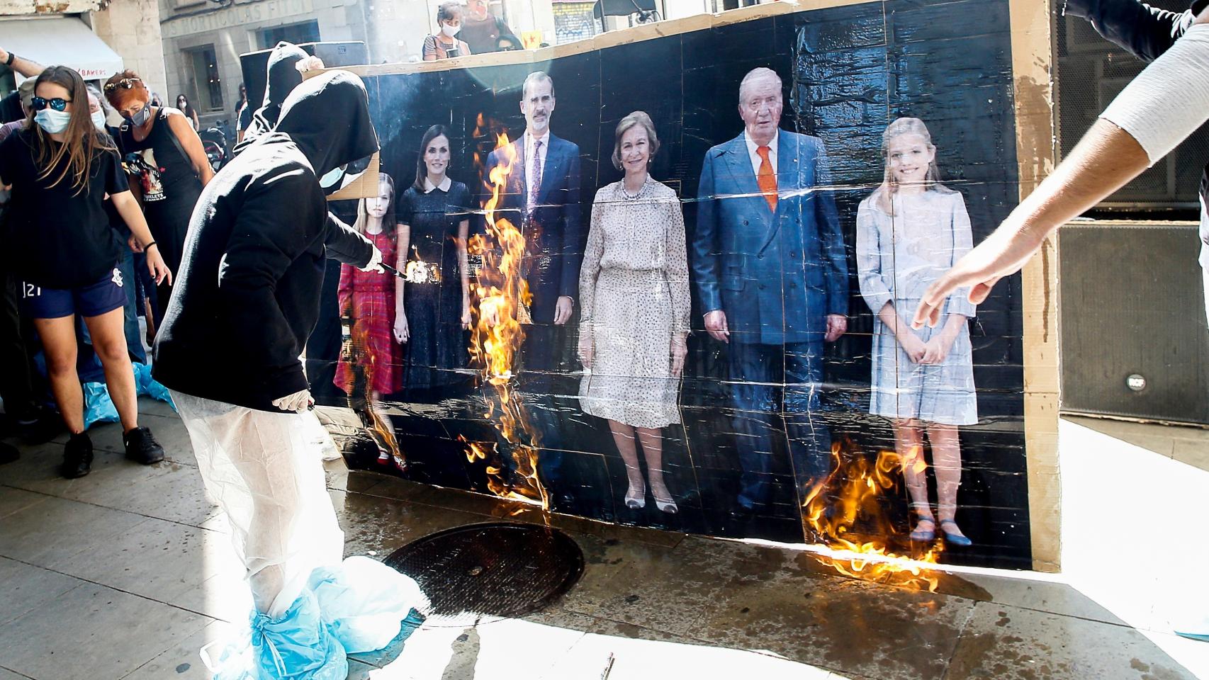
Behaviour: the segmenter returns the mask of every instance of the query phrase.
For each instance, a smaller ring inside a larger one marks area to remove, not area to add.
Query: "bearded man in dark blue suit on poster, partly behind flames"
[[[579,146],[550,132],[554,81],[534,71],[521,86],[525,133],[513,141],[516,161],[502,197],[501,215],[520,226],[526,254],[521,273],[533,295],[532,324],[525,327],[521,370],[532,391],[550,388],[550,374],[566,368],[565,329],[579,290],[586,234],[579,213]],[[487,156],[484,178],[499,163]]]

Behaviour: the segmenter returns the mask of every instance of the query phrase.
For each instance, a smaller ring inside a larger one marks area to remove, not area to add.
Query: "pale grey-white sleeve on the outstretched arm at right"
[[[1138,140],[1153,165],[1209,120],[1209,24],[1197,24],[1100,117]]]

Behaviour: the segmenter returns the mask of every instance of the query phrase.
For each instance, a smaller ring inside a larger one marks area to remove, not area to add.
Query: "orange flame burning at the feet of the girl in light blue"
[[[918,465],[922,452],[913,453]],[[844,455],[844,446],[837,441],[832,443],[832,473],[812,487],[802,504],[805,525],[826,548],[823,562],[845,576],[869,581],[904,576],[898,585],[935,592],[939,579],[929,565],[939,560],[942,542],[935,541],[922,556],[891,550],[892,544],[907,541],[884,506],[898,489],[901,457],[883,451],[877,463],[870,463],[861,452]]]

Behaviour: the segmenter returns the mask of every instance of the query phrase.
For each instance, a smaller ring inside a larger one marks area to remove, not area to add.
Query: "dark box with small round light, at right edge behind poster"
[[[1059,236],[1062,408],[1209,424],[1196,225],[1068,225]]]

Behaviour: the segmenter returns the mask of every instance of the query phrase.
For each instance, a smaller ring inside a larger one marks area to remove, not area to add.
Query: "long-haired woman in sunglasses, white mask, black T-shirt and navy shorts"
[[[42,71],[31,109],[28,124],[0,144],[0,182],[12,186],[4,243],[21,280],[23,312],[42,339],[54,401],[71,432],[63,475],[81,477],[92,465],[76,374],[76,314],[88,326],[105,368],[126,455],[157,463],[163,460],[163,449],[138,424],[134,371],[123,332],[127,281],[117,268],[122,244],[105,216],[106,194],[129,226],[132,240],[146,250],[151,275],[170,280],[172,273],[131,194],[112,140],[89,115],[80,74],[66,66]]]

